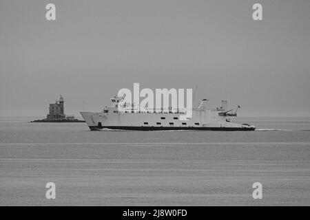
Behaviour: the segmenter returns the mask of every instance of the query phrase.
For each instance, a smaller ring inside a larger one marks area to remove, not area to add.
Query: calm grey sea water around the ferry
[[[0,118],[0,206],[310,206],[310,118],[238,119],[258,128],[248,132],[34,119]]]

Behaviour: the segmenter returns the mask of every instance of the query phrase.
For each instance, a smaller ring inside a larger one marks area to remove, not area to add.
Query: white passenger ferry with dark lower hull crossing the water
[[[159,111],[140,111],[134,104],[120,111],[118,103],[123,97],[111,98],[112,106],[101,112],[81,112],[91,131],[101,129],[134,130],[134,131],[166,131],[166,130],[209,130],[209,131],[254,131],[255,126],[231,122],[237,116],[236,111],[227,111],[227,100],[222,106],[208,109],[207,100],[202,100],[197,109],[192,109],[192,117],[180,120],[185,111],[161,109]],[[152,109],[154,110],[154,109]]]

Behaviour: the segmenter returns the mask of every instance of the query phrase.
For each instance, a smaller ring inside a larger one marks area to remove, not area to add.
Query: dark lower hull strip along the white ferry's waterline
[[[128,131],[254,131],[255,128],[229,128],[229,127],[197,127],[197,126],[90,126],[90,130],[115,129]]]

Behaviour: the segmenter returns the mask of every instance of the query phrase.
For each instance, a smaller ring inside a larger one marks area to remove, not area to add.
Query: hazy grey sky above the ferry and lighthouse
[[[0,115],[45,115],[59,94],[66,114],[101,111],[133,83],[310,116],[310,1],[0,0]]]

